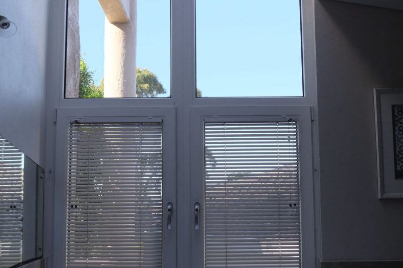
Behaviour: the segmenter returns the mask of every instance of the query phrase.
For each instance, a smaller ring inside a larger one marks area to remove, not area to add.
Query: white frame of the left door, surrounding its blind
[[[153,114],[153,116],[150,116]],[[83,116],[85,115],[85,116]],[[131,115],[131,116],[130,116]],[[54,244],[53,267],[66,265],[66,208],[68,189],[68,128],[75,120],[80,123],[162,123],[162,250],[163,262],[169,267],[176,265],[176,213],[171,218],[171,229],[167,228],[167,203],[176,207],[175,190],[175,109],[173,107],[148,108],[60,108],[57,109],[56,163],[54,199]]]

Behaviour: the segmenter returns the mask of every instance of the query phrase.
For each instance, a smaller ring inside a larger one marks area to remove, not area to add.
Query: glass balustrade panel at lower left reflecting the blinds
[[[42,256],[42,226],[43,169],[0,136],[0,268]]]

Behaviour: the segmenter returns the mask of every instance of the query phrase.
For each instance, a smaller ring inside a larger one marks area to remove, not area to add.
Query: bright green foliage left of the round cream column
[[[101,92],[94,84],[94,73],[88,69],[87,63],[80,59],[79,98],[103,98]]]

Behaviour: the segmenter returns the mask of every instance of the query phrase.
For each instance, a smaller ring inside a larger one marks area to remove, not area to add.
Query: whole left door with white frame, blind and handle
[[[54,265],[175,267],[175,109],[58,109],[57,122]]]

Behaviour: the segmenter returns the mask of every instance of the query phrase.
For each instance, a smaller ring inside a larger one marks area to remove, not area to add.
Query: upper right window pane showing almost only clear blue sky
[[[196,0],[196,96],[303,96],[300,21],[298,0]]]

